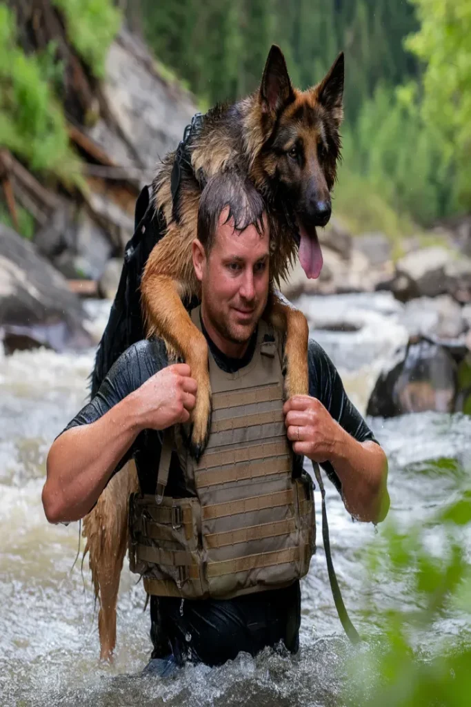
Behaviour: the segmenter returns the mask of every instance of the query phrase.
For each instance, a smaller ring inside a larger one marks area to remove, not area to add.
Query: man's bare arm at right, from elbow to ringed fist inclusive
[[[313,462],[333,465],[342,484],[345,508],[354,518],[384,520],[389,510],[388,461],[381,447],[371,440],[354,439],[309,395],[290,398],[283,411],[294,452]]]

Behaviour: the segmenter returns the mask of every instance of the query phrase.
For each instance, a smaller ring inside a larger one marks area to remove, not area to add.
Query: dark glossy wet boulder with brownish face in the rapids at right
[[[366,414],[394,417],[427,410],[451,412],[456,390],[457,366],[446,346],[427,339],[411,341],[405,355],[398,351],[379,375]]]

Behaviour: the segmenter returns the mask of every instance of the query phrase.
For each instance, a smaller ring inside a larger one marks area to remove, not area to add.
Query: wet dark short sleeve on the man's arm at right
[[[374,434],[347,396],[338,370],[322,346],[309,340],[309,395],[316,397],[344,430],[358,442],[376,442]],[[322,464],[330,481],[340,492],[341,484],[330,462]]]

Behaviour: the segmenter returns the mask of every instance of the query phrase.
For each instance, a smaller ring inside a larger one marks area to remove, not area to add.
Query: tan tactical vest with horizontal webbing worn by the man
[[[191,312],[201,329],[199,308]],[[261,321],[254,356],[225,373],[209,354],[213,404],[199,462],[165,433],[157,496],[130,498],[130,566],[149,594],[228,599],[304,576],[315,551],[311,478],[292,479],[281,346]],[[164,495],[172,446],[192,498]]]

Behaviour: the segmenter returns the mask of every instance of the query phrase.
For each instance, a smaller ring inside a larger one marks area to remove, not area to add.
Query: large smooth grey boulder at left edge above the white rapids
[[[87,321],[64,277],[31,243],[0,223],[0,331],[6,350],[90,346]]]

